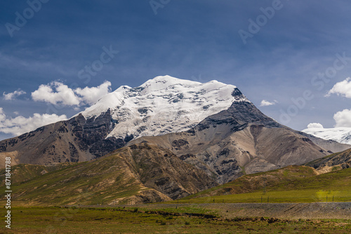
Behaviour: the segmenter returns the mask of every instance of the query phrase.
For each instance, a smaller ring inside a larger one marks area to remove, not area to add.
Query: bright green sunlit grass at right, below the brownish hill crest
[[[286,171],[284,172],[285,174],[287,173]],[[272,172],[266,172],[266,174],[270,173]],[[260,174],[250,176],[256,177]],[[251,193],[210,195],[216,189],[240,187],[243,186],[244,182],[245,179],[238,179],[223,186],[211,188],[181,200],[171,201],[170,203],[351,201],[351,168],[292,181],[282,179],[282,181],[275,181],[272,186],[267,186],[264,189],[258,186],[259,189]]]

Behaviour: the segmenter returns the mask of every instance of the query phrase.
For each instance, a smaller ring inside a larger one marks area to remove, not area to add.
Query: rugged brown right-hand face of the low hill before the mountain
[[[172,199],[218,185],[206,172],[180,160],[168,149],[146,143],[132,144],[128,148],[130,156],[125,158],[135,168],[140,181]]]

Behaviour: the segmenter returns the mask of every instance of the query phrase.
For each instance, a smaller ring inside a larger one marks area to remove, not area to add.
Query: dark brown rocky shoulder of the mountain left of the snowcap
[[[6,139],[0,142],[0,166],[4,167],[6,156],[11,156],[13,165],[55,165],[98,158],[126,144],[124,139],[105,139],[112,130],[111,122],[110,111],[90,119],[79,114],[69,121]]]

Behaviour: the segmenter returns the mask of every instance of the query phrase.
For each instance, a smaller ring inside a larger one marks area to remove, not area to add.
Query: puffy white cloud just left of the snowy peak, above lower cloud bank
[[[36,102],[48,102],[65,106],[94,104],[102,96],[111,92],[110,86],[111,82],[105,81],[98,87],[72,89],[63,83],[53,81],[48,85],[40,85],[37,90],[32,92],[32,99]]]

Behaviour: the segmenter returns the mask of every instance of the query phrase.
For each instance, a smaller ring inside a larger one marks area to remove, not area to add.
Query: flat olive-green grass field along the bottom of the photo
[[[347,233],[351,220],[223,219],[196,207],[145,208],[16,207],[9,230],[0,233]]]

